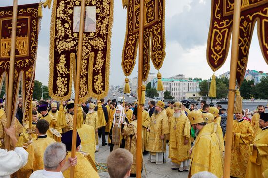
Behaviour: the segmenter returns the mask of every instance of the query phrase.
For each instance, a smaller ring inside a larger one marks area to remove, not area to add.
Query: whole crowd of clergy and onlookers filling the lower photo
[[[201,101],[200,106],[191,104],[188,109],[181,102],[166,105],[153,100],[147,108],[142,105],[143,155],[149,154],[149,161],[156,164],[165,163],[169,157],[171,169],[188,171],[188,178],[221,178],[227,110],[221,105],[212,107],[206,101]],[[75,107],[76,157],[71,158]],[[23,117],[19,98],[16,116],[7,129],[4,102],[0,99],[0,177],[69,178],[70,166],[75,166],[75,177],[98,178],[94,162],[95,152],[101,149],[99,139],[102,146],[110,146],[110,177],[135,177],[137,110],[137,103],[117,103],[116,99],[89,100],[81,105],[75,105],[73,100],[34,100],[29,119]],[[233,119],[230,176],[268,178],[265,107],[259,105],[253,112],[236,111]],[[14,151],[3,149],[6,135]],[[18,144],[19,139],[23,140],[22,145]]]

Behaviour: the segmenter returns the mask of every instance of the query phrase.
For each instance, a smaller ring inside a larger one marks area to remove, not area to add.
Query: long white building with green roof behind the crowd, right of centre
[[[183,76],[184,77],[184,76]],[[151,81],[151,86],[157,88],[157,78],[154,78]],[[171,96],[175,97],[175,100],[187,99],[189,97],[194,97],[197,93],[197,97],[199,97],[199,82],[196,80],[189,79],[174,79],[171,78],[162,78],[164,91],[159,91],[160,99],[164,98],[164,92],[169,91]]]

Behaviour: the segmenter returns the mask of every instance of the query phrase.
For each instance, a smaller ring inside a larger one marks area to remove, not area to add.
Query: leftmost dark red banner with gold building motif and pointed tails
[[[40,9],[39,3],[18,6],[14,74],[9,74],[13,6],[0,7],[0,89],[5,81],[7,94],[9,75],[14,75],[12,118],[17,110],[20,83],[24,118],[28,118],[34,87]]]

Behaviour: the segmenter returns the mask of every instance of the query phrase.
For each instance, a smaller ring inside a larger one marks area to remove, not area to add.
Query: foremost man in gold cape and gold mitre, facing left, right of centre
[[[189,151],[191,161],[188,178],[201,171],[211,172],[221,178],[223,176],[222,162],[214,124],[204,122],[200,110],[191,111],[188,118],[196,134],[195,144]]]

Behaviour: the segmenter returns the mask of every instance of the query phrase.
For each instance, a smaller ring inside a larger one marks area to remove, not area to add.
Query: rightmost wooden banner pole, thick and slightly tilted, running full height
[[[223,178],[230,178],[231,164],[231,146],[232,146],[232,128],[233,128],[233,111],[234,111],[234,92],[236,84],[236,68],[238,60],[238,40],[240,25],[241,0],[234,1],[233,28],[232,28],[232,49],[231,49],[231,66],[228,92],[228,110],[226,126],[226,142]]]

